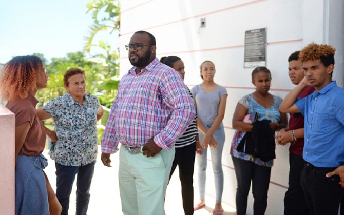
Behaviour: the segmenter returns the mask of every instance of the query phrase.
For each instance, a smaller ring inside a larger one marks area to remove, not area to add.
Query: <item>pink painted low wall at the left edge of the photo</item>
[[[0,214],[14,214],[15,116],[0,104]]]

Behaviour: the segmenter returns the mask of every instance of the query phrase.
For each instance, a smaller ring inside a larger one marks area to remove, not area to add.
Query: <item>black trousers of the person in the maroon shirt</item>
[[[302,156],[289,153],[289,182],[284,196],[284,215],[308,215],[309,210],[300,184],[304,160]]]

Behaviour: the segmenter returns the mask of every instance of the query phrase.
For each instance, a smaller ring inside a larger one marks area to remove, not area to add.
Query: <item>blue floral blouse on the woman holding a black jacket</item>
[[[260,104],[257,103],[257,101],[253,98],[252,94],[248,94],[243,96],[239,103],[242,104],[247,108],[247,114],[252,113],[254,111],[258,112],[258,120],[270,120],[271,122],[276,122],[278,123],[281,119],[281,114],[278,110],[279,105],[282,102],[282,99],[278,96],[273,95],[274,98],[274,104],[268,109]],[[253,157],[251,154],[246,154],[244,152],[238,152],[237,147],[245,135],[246,132],[244,131],[238,131],[235,130],[233,139],[232,139],[232,146],[231,146],[231,155],[235,158],[243,159],[246,161],[251,161],[254,162],[255,164],[258,164],[260,166],[266,166],[266,167],[271,167],[273,166],[273,160],[264,162],[260,160],[259,158]]]

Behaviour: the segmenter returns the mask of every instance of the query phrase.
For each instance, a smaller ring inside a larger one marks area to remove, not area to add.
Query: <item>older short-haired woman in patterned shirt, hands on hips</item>
[[[85,72],[71,68],[64,74],[67,93],[37,109],[41,121],[53,118],[55,131],[46,133],[55,144],[49,155],[55,160],[56,196],[62,205],[62,213],[68,214],[69,196],[75,175],[77,177],[77,213],[86,214],[89,189],[98,153],[96,123],[103,109],[93,95],[85,93]]]

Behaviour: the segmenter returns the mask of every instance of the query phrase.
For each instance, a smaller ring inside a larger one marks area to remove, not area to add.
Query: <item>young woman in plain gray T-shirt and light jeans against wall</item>
[[[210,146],[216,193],[213,214],[221,215],[223,213],[221,205],[223,192],[221,158],[225,140],[222,120],[226,108],[227,90],[214,82],[216,70],[213,62],[204,61],[200,69],[203,82],[191,90],[197,106],[199,140],[204,151],[202,155],[196,155],[200,201],[194,210],[205,207],[207,149]]]

